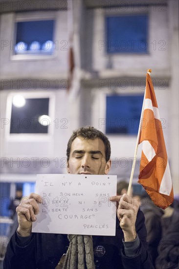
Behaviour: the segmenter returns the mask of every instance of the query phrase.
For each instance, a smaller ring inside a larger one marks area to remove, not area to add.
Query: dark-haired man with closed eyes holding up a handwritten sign
[[[82,127],[68,141],[67,172],[107,175],[110,156],[108,138]],[[19,227],[8,244],[4,269],[153,269],[138,201],[127,194],[110,200],[119,203],[115,236],[32,233],[42,198],[31,194],[17,207]]]

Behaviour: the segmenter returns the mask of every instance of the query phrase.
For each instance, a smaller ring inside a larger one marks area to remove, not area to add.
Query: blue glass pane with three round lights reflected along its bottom
[[[15,54],[52,54],[54,21],[17,22]]]

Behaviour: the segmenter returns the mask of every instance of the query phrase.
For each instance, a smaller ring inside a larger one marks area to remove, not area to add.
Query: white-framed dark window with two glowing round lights
[[[13,92],[7,98],[5,134],[9,141],[51,139],[55,98],[53,92]]]

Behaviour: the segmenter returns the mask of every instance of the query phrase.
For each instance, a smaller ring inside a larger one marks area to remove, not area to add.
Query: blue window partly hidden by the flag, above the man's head
[[[143,95],[106,97],[106,134],[137,134]]]

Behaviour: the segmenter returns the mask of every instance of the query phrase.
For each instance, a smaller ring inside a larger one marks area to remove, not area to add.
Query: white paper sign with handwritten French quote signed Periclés
[[[36,193],[42,197],[32,232],[115,235],[116,176],[37,175]]]

